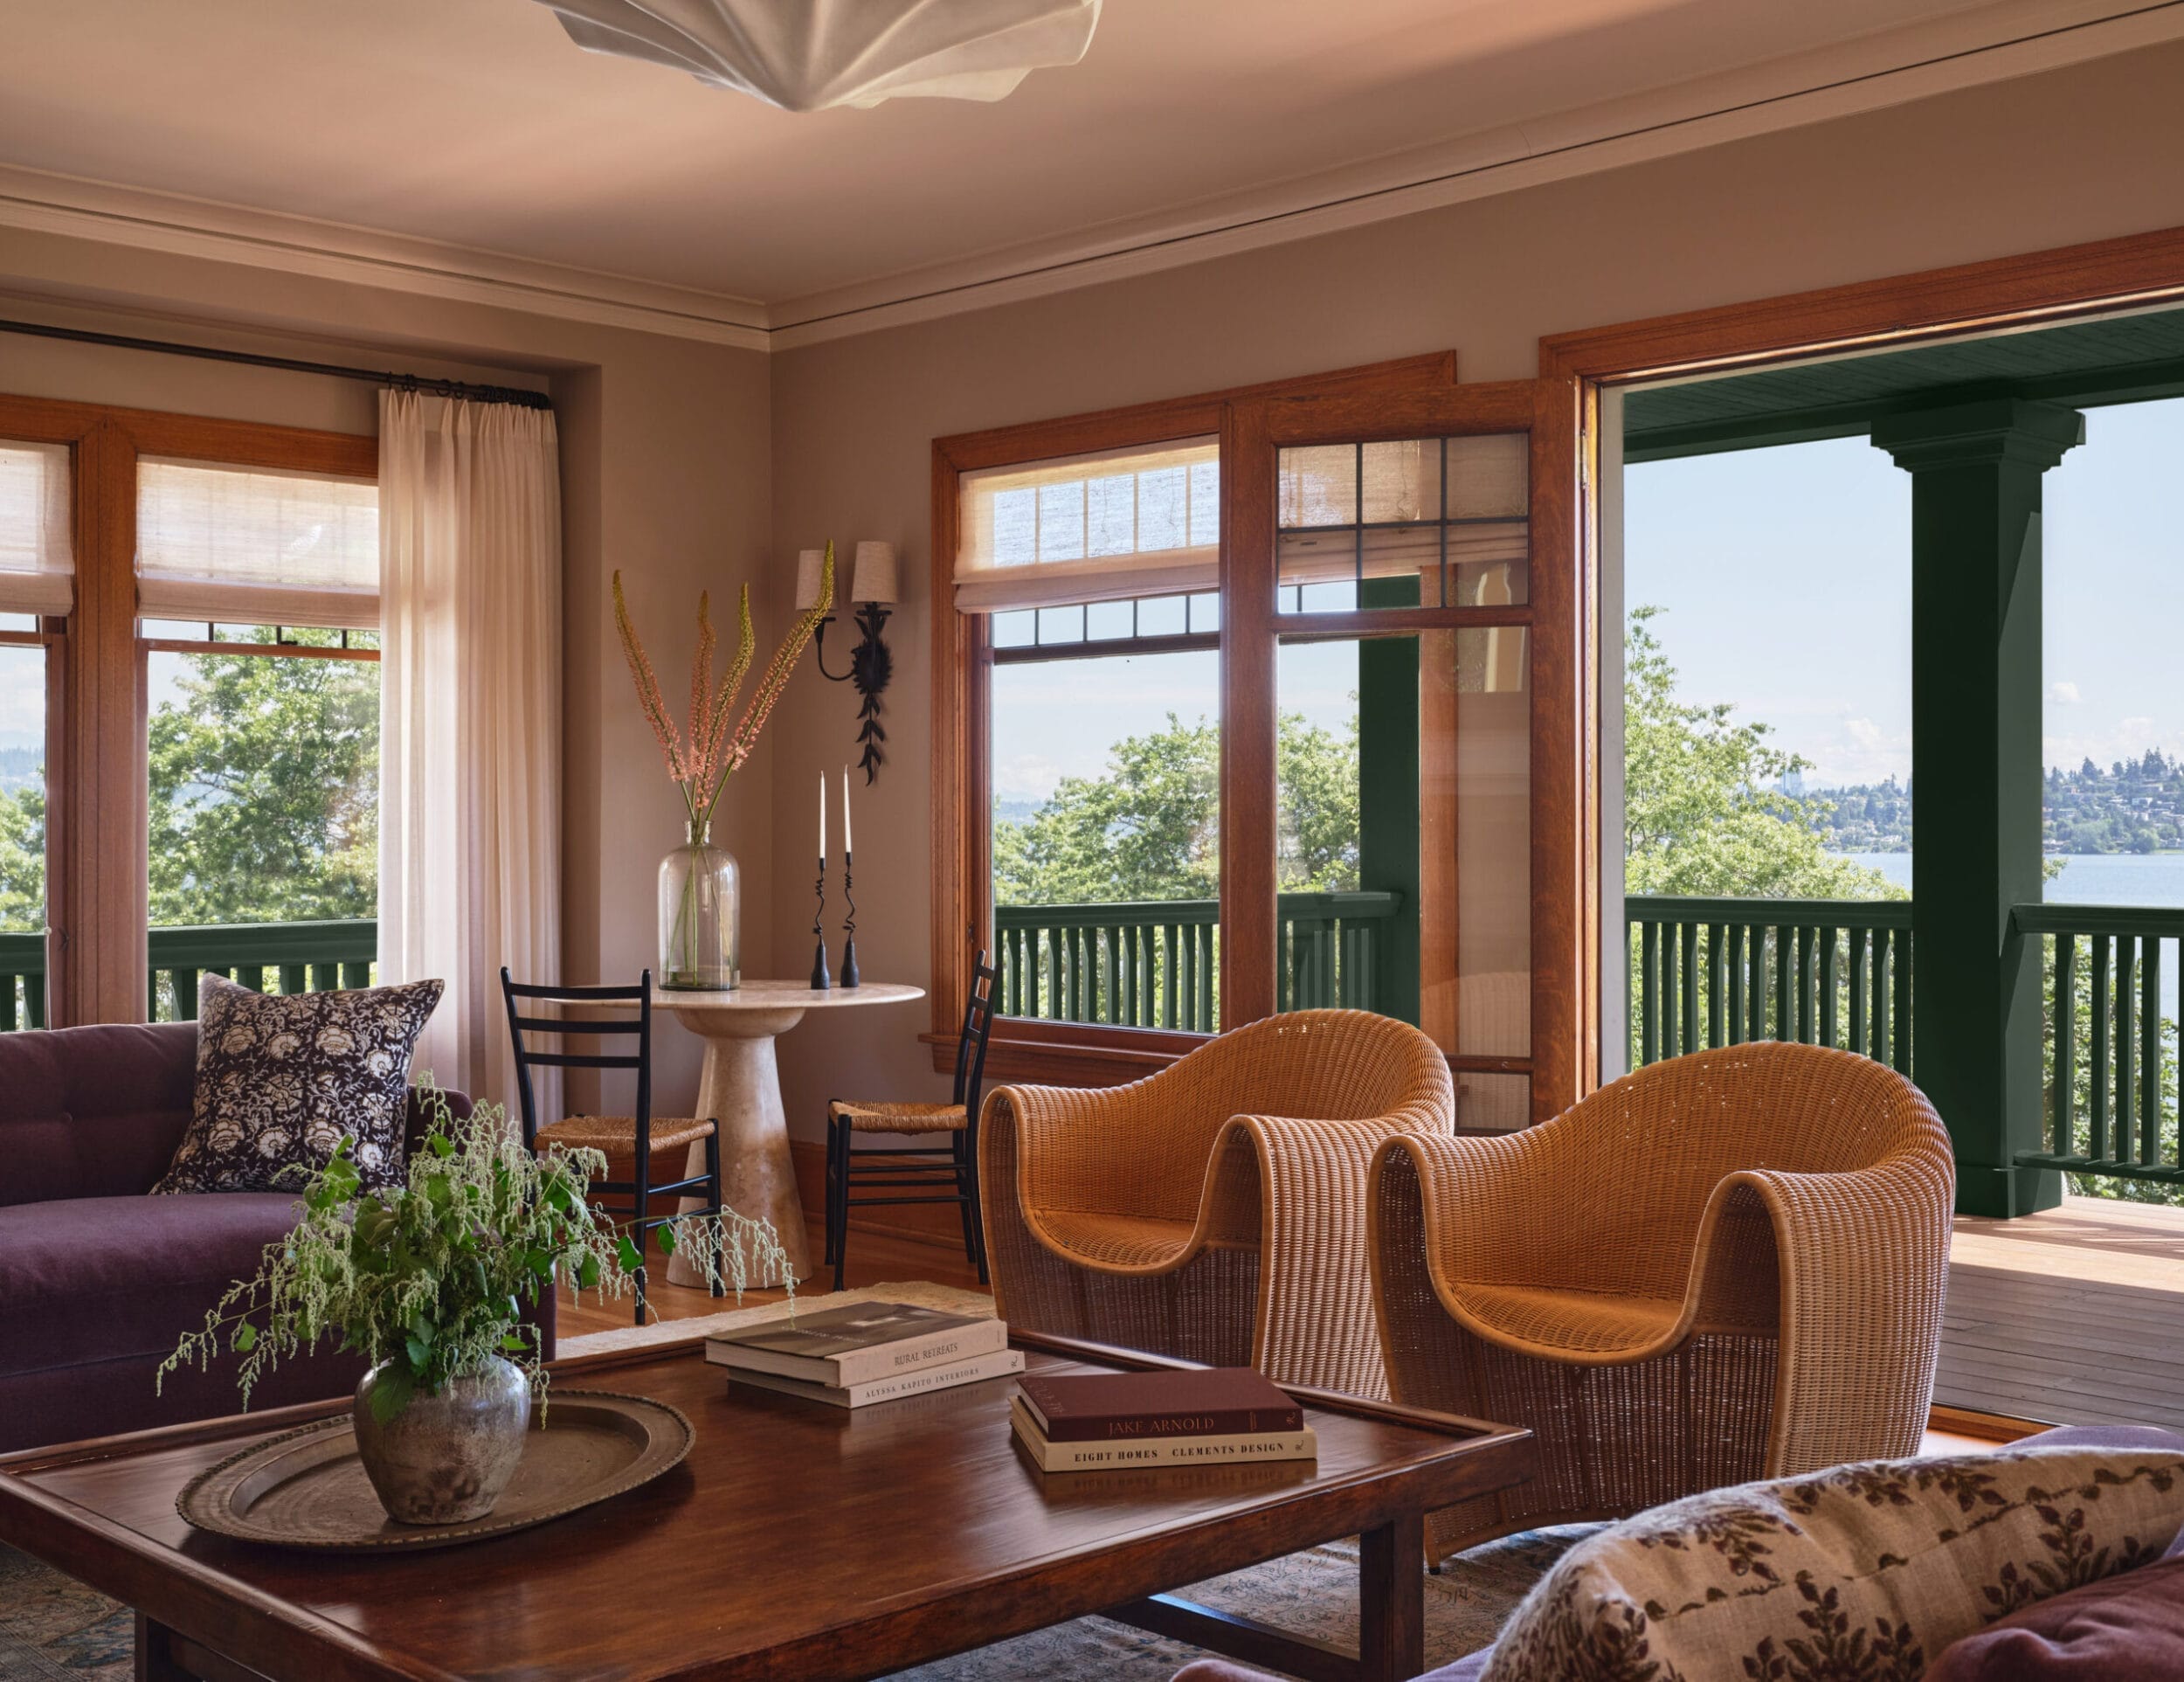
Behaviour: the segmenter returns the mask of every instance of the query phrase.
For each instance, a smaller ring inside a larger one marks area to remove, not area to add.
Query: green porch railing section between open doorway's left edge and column
[[[1623,913],[1634,1068],[1800,1040],[1911,1070],[1909,900],[1631,893]]]

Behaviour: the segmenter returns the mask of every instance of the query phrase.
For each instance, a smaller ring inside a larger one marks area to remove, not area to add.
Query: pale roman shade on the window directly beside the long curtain
[[[225,625],[380,625],[380,487],[138,463],[138,612]]]

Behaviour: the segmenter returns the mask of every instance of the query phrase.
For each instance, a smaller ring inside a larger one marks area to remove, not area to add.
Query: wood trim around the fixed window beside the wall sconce
[[[972,948],[992,926],[992,834],[983,821],[989,789],[987,697],[992,642],[987,620],[954,612],[957,520],[963,474],[1024,461],[1127,450],[1147,443],[1221,435],[1227,457],[1227,417],[1236,404],[1269,398],[1337,398],[1402,387],[1444,389],[1457,382],[1455,352],[1406,356],[1391,363],[1339,369],[1295,380],[1271,380],[1088,415],[959,433],[933,441],[933,1066],[954,1068],[954,1042],[970,985]],[[1223,496],[1223,579],[1230,553]],[[1269,603],[1271,609],[1271,603]],[[1221,612],[1223,649],[1236,647],[1230,605]],[[1227,666],[1227,660],[1223,660]],[[1225,679],[1223,679],[1225,682]],[[1227,697],[1223,697],[1227,706]],[[1225,719],[1223,719],[1225,723]],[[1230,730],[1223,727],[1223,758]],[[1227,782],[1227,773],[1223,773]],[[1271,795],[1269,795],[1271,797]],[[978,804],[981,810],[972,810]],[[1230,832],[1223,824],[1223,915],[1230,902]],[[1227,983],[1223,983],[1227,987]],[[1271,990],[1271,979],[1269,979]],[[1234,1020],[1249,1020],[1247,1000],[1223,994]],[[1267,1007],[1271,1007],[1271,992]],[[1155,1029],[1116,1029],[1096,1022],[1029,1022],[994,1018],[987,1068],[1002,1079],[1044,1079],[1072,1086],[1114,1086],[1173,1064],[1206,1035]]]

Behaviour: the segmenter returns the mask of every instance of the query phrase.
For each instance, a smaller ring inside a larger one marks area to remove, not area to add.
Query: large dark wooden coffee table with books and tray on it
[[[1020,1337],[1035,1372],[1179,1365]],[[1013,1383],[856,1413],[732,1389],[697,1343],[557,1383],[673,1402],[690,1457],[531,1531],[406,1557],[192,1531],[181,1485],[339,1405],[0,1459],[0,1540],[138,1610],[138,1678],[871,1678],[1101,1612],[1306,1678],[1424,1669],[1424,1514],[1531,1474],[1529,1431],[1297,1391],[1319,1459],[1042,1474]],[[1162,1590],[1363,1536],[1363,1654]]]

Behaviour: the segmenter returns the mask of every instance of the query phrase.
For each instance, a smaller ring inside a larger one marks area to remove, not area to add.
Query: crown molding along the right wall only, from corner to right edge
[[[773,350],[935,321],[2184,39],[2184,0],[2009,0],[1251,194],[769,306]]]

